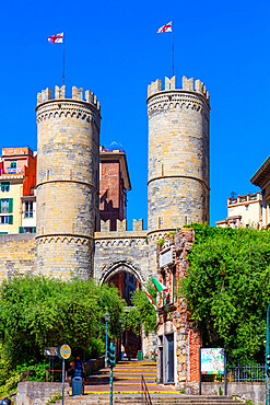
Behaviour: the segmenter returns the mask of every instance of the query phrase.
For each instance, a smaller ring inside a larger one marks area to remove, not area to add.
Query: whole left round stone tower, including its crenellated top
[[[66,86],[37,95],[37,270],[69,279],[93,275],[99,223],[99,103]]]

